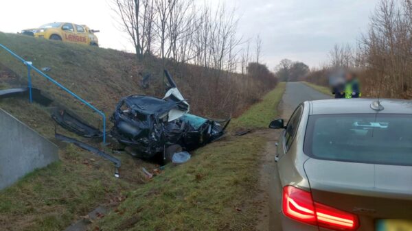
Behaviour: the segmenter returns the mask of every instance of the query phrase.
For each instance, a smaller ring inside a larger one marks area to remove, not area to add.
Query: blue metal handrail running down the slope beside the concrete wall
[[[16,53],[14,53],[13,51],[11,51],[10,49],[8,49],[7,47],[5,47],[2,44],[0,44],[0,47],[5,49],[5,51],[8,51],[8,53],[10,53],[12,56],[14,56],[14,58],[18,59],[19,61],[21,61],[23,64],[25,64],[27,66],[27,81],[28,81],[28,88],[29,88],[30,103],[32,103],[32,101],[33,101],[33,98],[32,98],[32,76],[30,75],[30,72],[33,70],[33,71],[36,71],[38,74],[42,75],[43,77],[45,77],[50,82],[56,84],[58,87],[65,90],[67,93],[69,93],[70,95],[72,95],[73,97],[75,97],[76,99],[81,101],[83,104],[85,104],[86,106],[88,106],[89,108],[94,110],[95,112],[98,112],[98,114],[100,114],[100,116],[103,119],[103,143],[106,144],[106,115],[102,111],[98,110],[93,105],[89,104],[89,102],[82,99],[80,96],[76,95],[71,90],[65,88],[65,86],[58,83],[56,80],[53,80],[52,77],[49,77],[49,75],[46,75],[45,73],[43,73],[42,71],[37,69],[36,66],[33,66],[32,62],[27,62],[26,60],[23,60],[23,58],[21,58],[20,56],[17,56]]]

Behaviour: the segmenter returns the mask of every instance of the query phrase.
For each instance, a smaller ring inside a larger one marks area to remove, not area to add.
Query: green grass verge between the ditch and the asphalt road
[[[236,124],[265,127],[277,115],[284,84],[251,107]],[[253,197],[266,138],[258,134],[213,143],[190,162],[168,168],[128,194],[98,226],[102,230],[254,230]],[[93,225],[94,226],[94,225]]]

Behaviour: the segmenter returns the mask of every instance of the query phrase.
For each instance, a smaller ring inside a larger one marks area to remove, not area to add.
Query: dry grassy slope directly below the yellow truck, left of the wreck
[[[38,68],[51,67],[48,75],[80,97],[91,101],[107,115],[113,111],[121,97],[150,94],[154,90],[154,86],[146,91],[140,90],[137,73],[141,71],[141,66],[130,65],[135,60],[129,53],[1,32],[0,42],[25,60],[32,61]],[[25,85],[27,69],[21,62],[1,50],[0,63],[19,75],[19,80],[15,80],[15,77],[7,79],[0,76],[0,85]],[[76,110],[91,123],[100,123],[100,117],[93,115],[91,109],[80,105],[71,95],[47,82],[44,77],[34,72],[32,75],[34,87],[41,88],[55,101]]]

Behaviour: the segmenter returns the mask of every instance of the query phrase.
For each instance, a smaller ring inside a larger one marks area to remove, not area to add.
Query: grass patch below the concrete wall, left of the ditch
[[[60,162],[26,175],[0,191],[0,230],[64,230],[100,204],[116,203],[125,191],[146,182],[141,167],[150,163],[124,154],[120,179],[111,162],[73,145],[60,151]]]

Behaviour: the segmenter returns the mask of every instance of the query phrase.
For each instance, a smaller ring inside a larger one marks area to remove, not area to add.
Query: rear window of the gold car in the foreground
[[[412,114],[310,116],[304,151],[323,160],[412,165]]]

